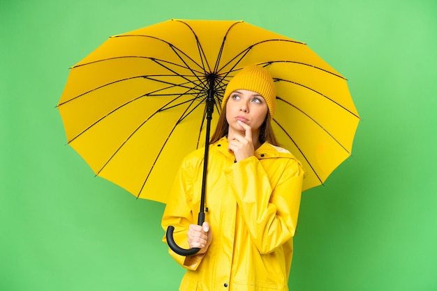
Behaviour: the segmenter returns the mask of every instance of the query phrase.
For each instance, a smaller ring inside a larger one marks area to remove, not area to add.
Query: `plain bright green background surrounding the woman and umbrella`
[[[434,0],[0,0],[0,290],[177,290],[163,205],[94,178],[55,108],[108,36],[243,19],[348,78],[353,156],[304,192],[292,290],[437,290]]]

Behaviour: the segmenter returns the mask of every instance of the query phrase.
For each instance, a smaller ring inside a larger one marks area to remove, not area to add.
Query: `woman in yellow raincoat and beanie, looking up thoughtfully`
[[[179,246],[200,251],[183,257],[169,249],[187,269],[179,290],[288,290],[304,172],[277,146],[275,107],[274,82],[265,68],[248,66],[229,82],[209,145],[202,226],[195,223],[204,150],[182,162],[162,226],[175,226]]]

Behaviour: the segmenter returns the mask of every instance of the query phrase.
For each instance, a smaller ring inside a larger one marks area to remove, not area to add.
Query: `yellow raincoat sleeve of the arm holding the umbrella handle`
[[[183,249],[189,249],[186,233],[190,224],[197,223],[197,213],[193,214],[193,177],[195,168],[193,164],[184,159],[182,166],[179,168],[175,182],[170,192],[168,203],[165,206],[161,226],[166,231],[168,226],[174,226],[173,238],[178,246]],[[167,244],[164,235],[163,242]],[[202,261],[204,254],[191,256],[178,255],[170,248],[168,253],[186,269],[195,270]]]

